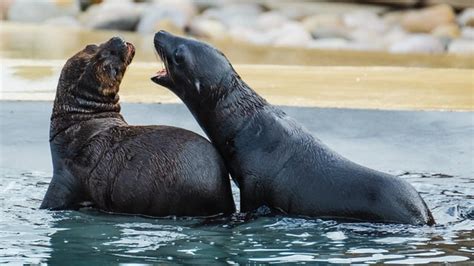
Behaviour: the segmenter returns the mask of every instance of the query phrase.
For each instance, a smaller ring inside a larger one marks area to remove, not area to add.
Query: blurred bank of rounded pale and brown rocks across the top
[[[140,35],[166,29],[221,43],[224,49],[229,43],[240,43],[398,54],[474,53],[472,0],[1,0],[0,3],[2,22],[120,30]],[[61,37],[67,39],[68,35]],[[238,60],[245,62],[271,61],[252,55],[240,56]],[[280,60],[296,64],[310,61]]]

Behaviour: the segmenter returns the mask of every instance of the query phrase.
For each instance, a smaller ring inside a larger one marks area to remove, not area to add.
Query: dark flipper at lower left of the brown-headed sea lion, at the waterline
[[[72,210],[79,208],[80,182],[67,170],[55,171],[40,209]]]

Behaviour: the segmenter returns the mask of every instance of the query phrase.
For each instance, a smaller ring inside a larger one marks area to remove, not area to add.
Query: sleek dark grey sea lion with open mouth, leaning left
[[[165,69],[152,80],[178,95],[226,161],[242,211],[266,205],[289,215],[434,224],[406,181],[343,158],[270,105],[205,43],[160,31]]]

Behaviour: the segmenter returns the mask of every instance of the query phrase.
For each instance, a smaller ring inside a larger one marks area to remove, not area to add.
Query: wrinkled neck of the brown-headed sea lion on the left
[[[50,139],[74,124],[98,118],[118,118],[120,104],[118,94],[99,96],[91,94],[87,89],[71,91],[58,88],[51,115]]]

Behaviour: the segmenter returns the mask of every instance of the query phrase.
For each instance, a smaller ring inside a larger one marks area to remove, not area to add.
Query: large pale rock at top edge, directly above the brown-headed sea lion
[[[133,31],[142,12],[143,5],[127,1],[106,1],[89,7],[79,20],[88,28]]]

